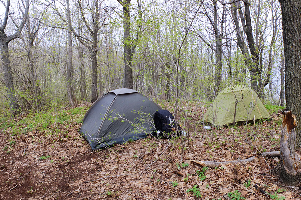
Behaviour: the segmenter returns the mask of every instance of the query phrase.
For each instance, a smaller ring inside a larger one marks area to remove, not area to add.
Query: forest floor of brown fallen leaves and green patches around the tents
[[[77,132],[88,107],[0,122],[0,200],[301,198],[300,188],[281,186],[272,174],[279,159],[260,154],[279,150],[282,114],[278,112],[269,121],[212,132],[201,123],[206,108],[188,106],[180,113],[182,118],[188,114],[185,130],[190,138],[184,151],[183,138],[148,137],[91,152]],[[251,162],[214,169],[192,161],[252,156],[256,158]]]

